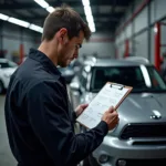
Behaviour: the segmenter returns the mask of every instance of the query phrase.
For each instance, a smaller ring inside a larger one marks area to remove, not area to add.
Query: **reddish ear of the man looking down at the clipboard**
[[[68,30],[65,28],[60,29],[60,31],[58,32],[58,38],[61,44],[66,44],[69,41]]]

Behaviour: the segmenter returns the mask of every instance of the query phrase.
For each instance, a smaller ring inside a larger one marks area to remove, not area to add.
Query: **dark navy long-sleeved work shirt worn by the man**
[[[74,133],[65,81],[52,61],[34,49],[11,76],[4,111],[19,166],[74,166],[107,134],[105,122],[84,134]]]

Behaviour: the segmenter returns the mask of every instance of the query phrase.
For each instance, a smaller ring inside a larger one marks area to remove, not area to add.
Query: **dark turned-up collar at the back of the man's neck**
[[[61,72],[43,52],[35,49],[30,49],[29,58],[42,63],[42,65],[52,71],[54,74],[61,76]]]

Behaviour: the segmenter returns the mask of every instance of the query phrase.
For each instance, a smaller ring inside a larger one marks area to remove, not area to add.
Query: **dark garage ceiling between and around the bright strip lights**
[[[50,6],[71,6],[85,20],[82,0],[45,0]],[[96,31],[114,33],[132,0],[90,0]],[[42,27],[48,11],[33,0],[0,0],[0,12]],[[86,21],[86,20],[85,20]]]

